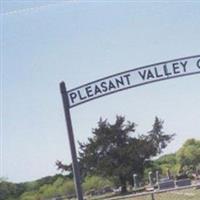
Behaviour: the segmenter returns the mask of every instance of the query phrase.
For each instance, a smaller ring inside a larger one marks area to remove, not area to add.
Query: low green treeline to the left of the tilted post
[[[0,183],[0,200],[42,200],[58,195],[74,195],[72,178],[58,174],[19,184]]]

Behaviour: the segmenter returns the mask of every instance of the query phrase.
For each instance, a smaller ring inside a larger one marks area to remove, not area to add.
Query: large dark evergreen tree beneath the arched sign
[[[125,123],[122,116],[117,116],[114,124],[100,119],[93,137],[80,143],[82,174],[115,177],[125,193],[133,173],[143,174],[146,161],[161,153],[174,136],[164,134],[163,121],[157,117],[148,135],[133,137],[135,127],[135,123]]]

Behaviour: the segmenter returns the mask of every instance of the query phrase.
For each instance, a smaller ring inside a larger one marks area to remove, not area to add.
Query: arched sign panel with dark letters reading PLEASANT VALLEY
[[[131,87],[200,73],[200,56],[132,69],[68,91],[70,107]]]

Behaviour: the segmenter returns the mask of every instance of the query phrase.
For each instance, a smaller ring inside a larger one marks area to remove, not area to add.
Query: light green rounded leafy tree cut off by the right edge
[[[177,152],[181,170],[196,170],[200,166],[200,140],[188,139]]]

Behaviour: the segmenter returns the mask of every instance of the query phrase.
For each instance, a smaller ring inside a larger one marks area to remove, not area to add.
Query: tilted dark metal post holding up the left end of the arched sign
[[[79,171],[79,166],[78,166],[78,161],[77,161],[76,147],[75,147],[75,142],[74,142],[74,134],[73,134],[70,107],[69,107],[69,98],[67,95],[67,90],[66,90],[64,82],[60,83],[60,92],[62,95],[62,101],[63,101],[64,112],[65,112],[65,121],[67,125],[69,144],[70,144],[70,149],[71,149],[72,166],[73,166],[73,173],[75,177],[74,181],[75,181],[75,186],[76,186],[76,195],[77,195],[78,200],[83,200],[83,193],[82,193],[81,181],[80,181],[80,171]]]

